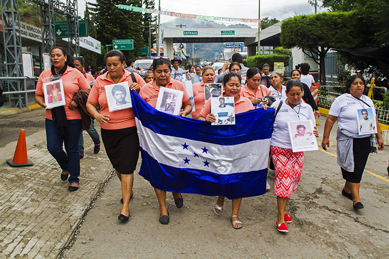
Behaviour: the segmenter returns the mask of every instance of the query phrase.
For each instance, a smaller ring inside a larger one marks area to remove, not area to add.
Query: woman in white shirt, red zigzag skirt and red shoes
[[[273,75],[273,74],[272,74]],[[301,101],[303,87],[300,80],[292,79],[286,84],[286,99],[283,101],[274,121],[274,131],[270,140],[270,155],[274,162],[274,194],[277,196],[277,229],[289,232],[285,223],[292,218],[286,213],[286,203],[292,192],[296,192],[300,181],[304,152],[293,152],[289,137],[289,121],[312,121],[313,133],[318,137],[315,116],[311,106]],[[281,101],[272,107],[277,110]]]

